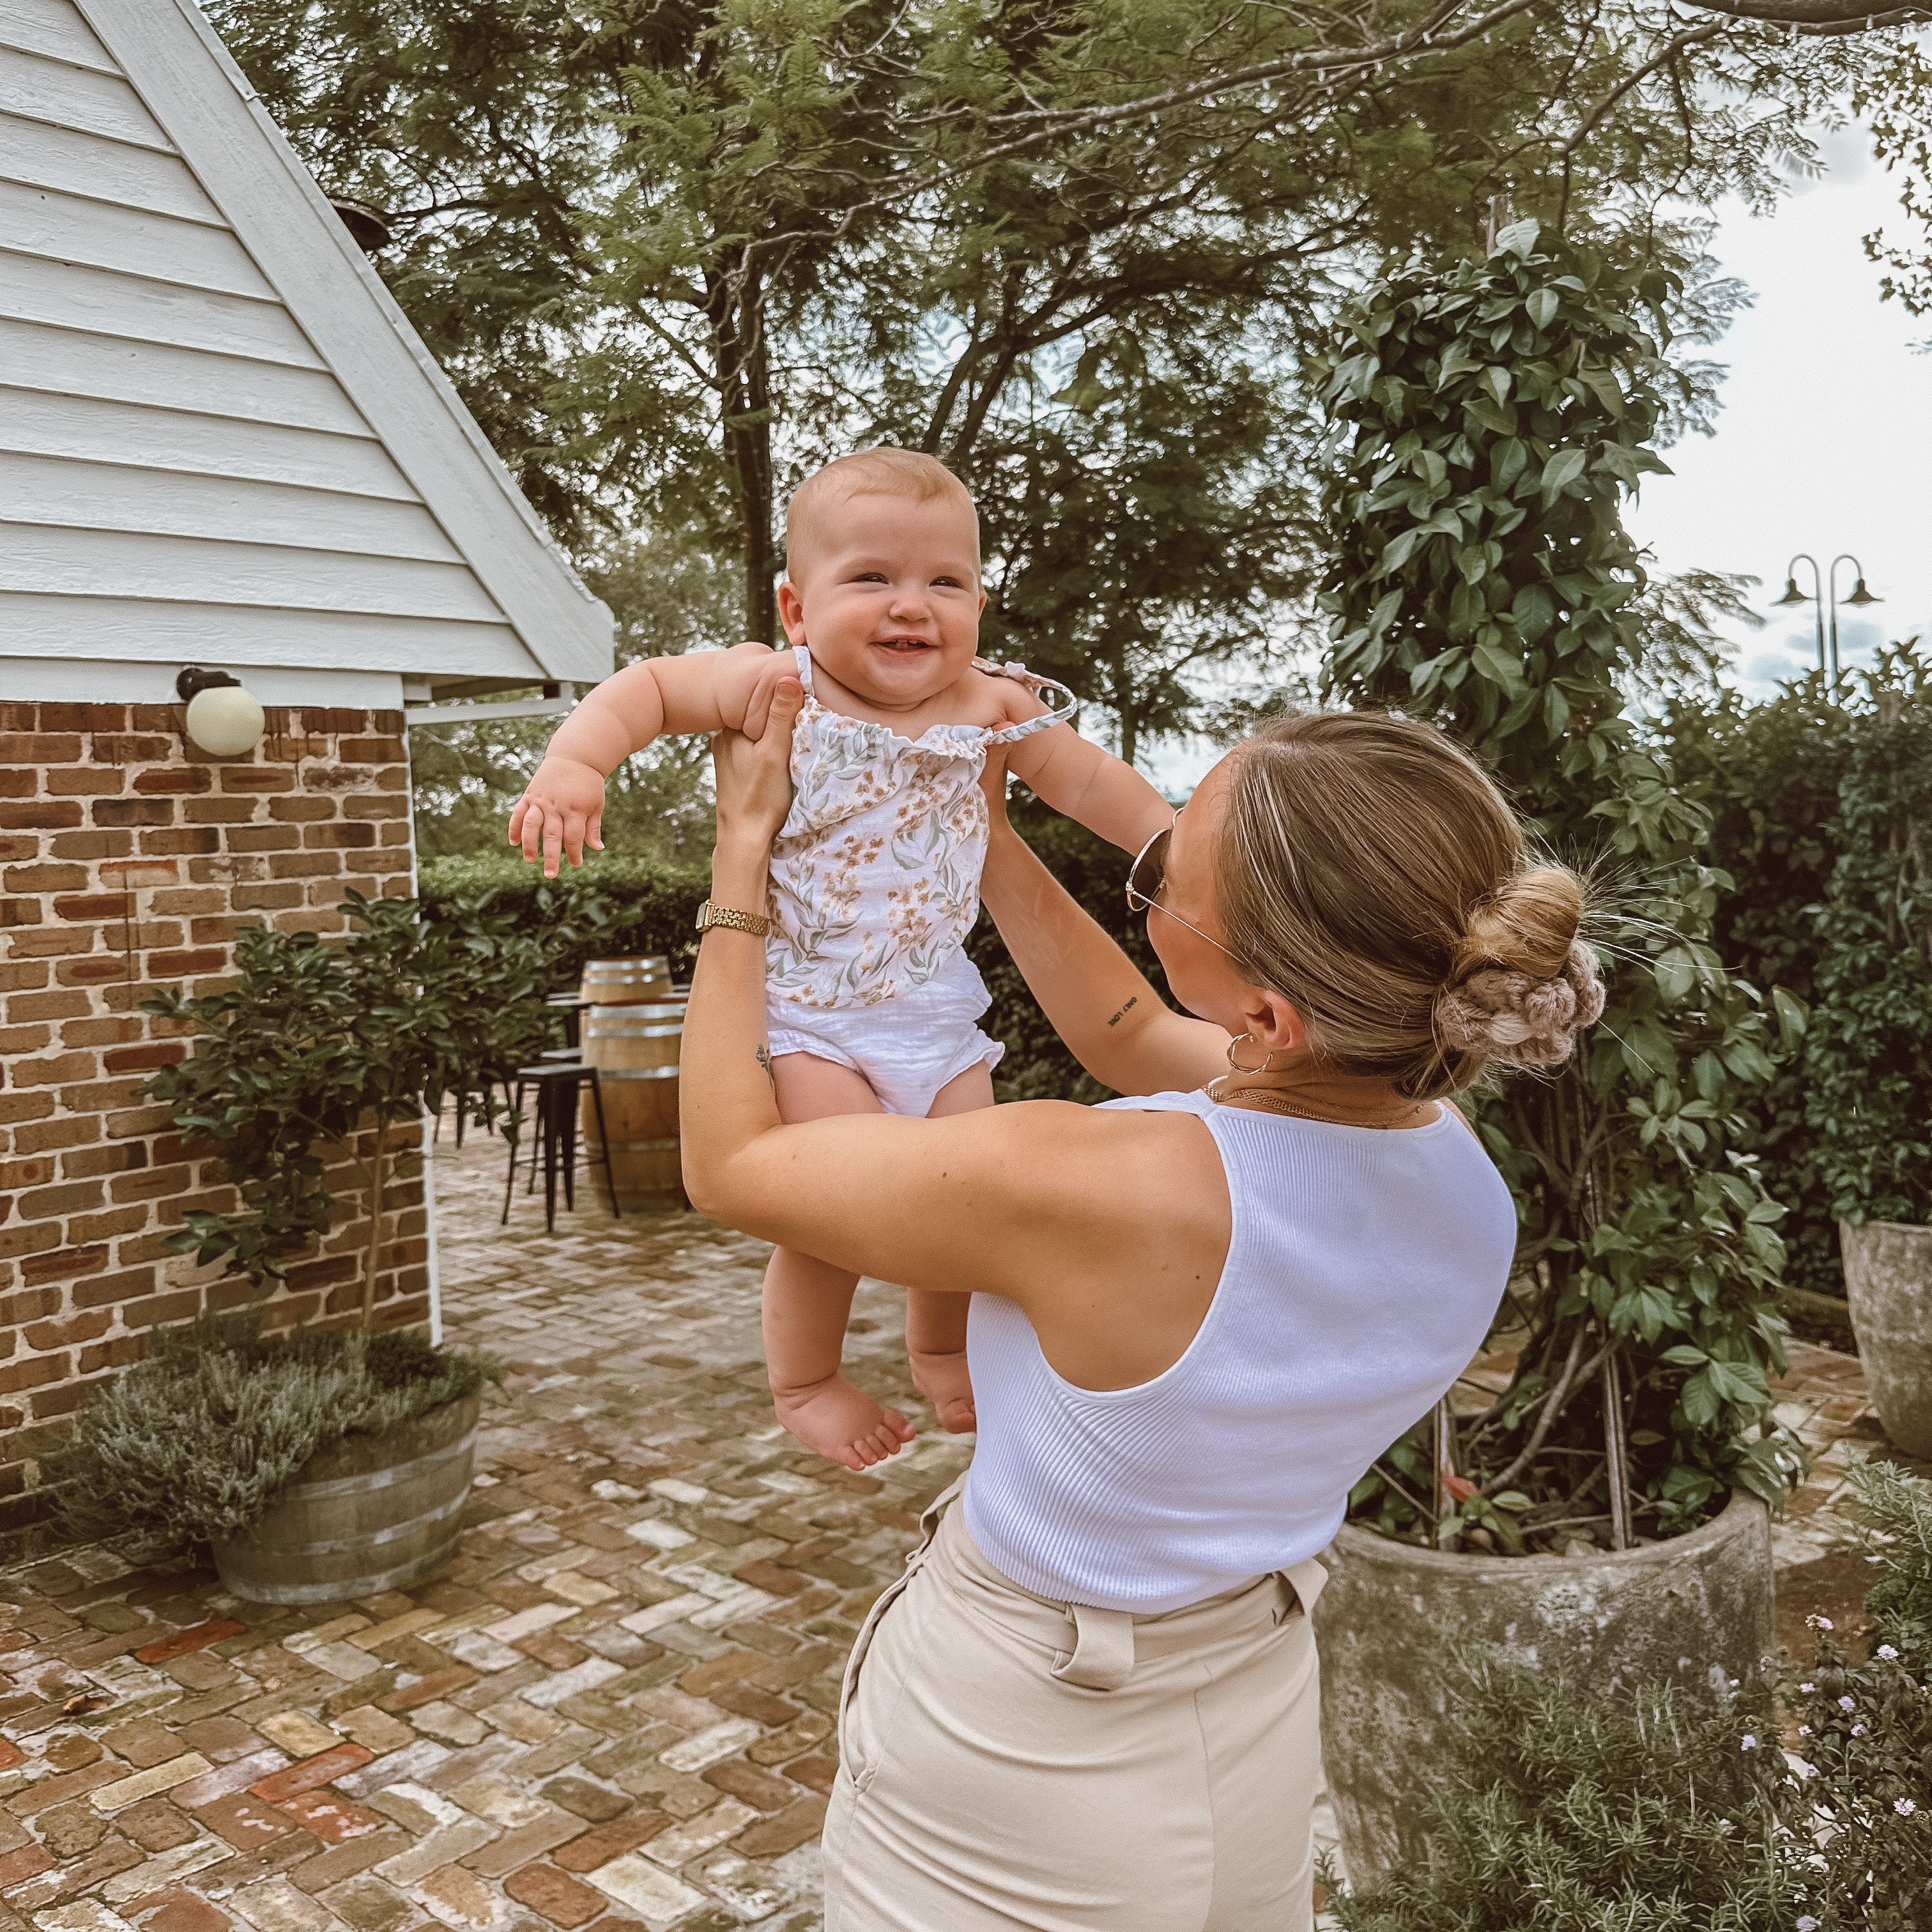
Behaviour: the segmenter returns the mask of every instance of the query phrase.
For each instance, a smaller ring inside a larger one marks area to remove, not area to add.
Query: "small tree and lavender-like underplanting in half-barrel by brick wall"
[[[79,1534],[207,1538],[238,1596],[303,1604],[394,1588],[448,1555],[469,1488],[481,1358],[377,1333],[396,1167],[421,1121],[497,1111],[495,1086],[545,1043],[541,949],[491,918],[427,925],[410,900],[350,895],[355,931],[247,929],[218,993],[145,1010],[195,1028],[191,1057],[149,1092],[189,1151],[216,1151],[236,1206],[170,1236],[270,1294],[346,1211],[359,1283],[294,1335],[207,1318],[155,1337],[147,1360],[83,1408],[54,1463]],[[332,1323],[354,1325],[332,1325]]]

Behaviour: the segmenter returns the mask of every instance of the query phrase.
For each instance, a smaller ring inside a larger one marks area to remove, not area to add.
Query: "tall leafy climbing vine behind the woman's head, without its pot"
[[[1480,1115],[1522,1215],[1515,1376],[1434,1459],[1435,1509],[1414,1445],[1356,1492],[1387,1530],[1476,1524],[1511,1549],[1577,1519],[1621,1538],[1625,1486],[1646,1530],[1683,1530],[1733,1484],[1777,1499],[1797,1461],[1764,1379],[1783,1366],[1783,1209],[1741,1151],[1777,1030],[1712,947],[1708,817],[1621,690],[1644,649],[1621,500],[1663,468],[1648,444],[1673,379],[1669,276],[1634,282],[1652,334],[1602,257],[1522,222],[1488,261],[1378,280],[1321,371],[1329,688],[1455,732],[1551,852],[1611,885],[1592,1043]],[[1779,1010],[1789,1043],[1803,1012]]]

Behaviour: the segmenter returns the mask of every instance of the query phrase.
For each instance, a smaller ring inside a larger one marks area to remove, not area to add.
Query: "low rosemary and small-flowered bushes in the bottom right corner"
[[[1449,1716],[1434,1857],[1352,1889],[1325,1872],[1343,1932],[1922,1932],[1932,1490],[1878,1463],[1853,1482],[1874,1532],[1876,1642],[1849,1658],[1812,1619],[1781,1708],[1756,1685],[1700,1712],[1667,1685],[1604,1702],[1466,1642],[1437,1650]]]

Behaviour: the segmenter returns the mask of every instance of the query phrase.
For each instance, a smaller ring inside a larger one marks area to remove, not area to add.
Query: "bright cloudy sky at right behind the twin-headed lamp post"
[[[1932,634],[1932,355],[1913,350],[1932,338],[1932,317],[1884,301],[1861,245],[1874,228],[1911,232],[1897,178],[1857,128],[1824,135],[1822,155],[1824,176],[1797,182],[1776,214],[1752,216],[1737,201],[1716,211],[1712,253],[1756,303],[1706,352],[1729,365],[1716,435],[1667,450],[1675,475],[1646,479],[1627,516],[1654,568],[1762,580],[1750,599],[1770,622],[1733,632],[1731,676],[1752,697],[1818,661],[1812,607],[1770,609],[1797,551],[1822,568],[1853,553],[1884,599],[1845,611],[1853,572],[1839,566],[1843,661]],[[1808,593],[1810,570],[1801,564],[1797,578]]]

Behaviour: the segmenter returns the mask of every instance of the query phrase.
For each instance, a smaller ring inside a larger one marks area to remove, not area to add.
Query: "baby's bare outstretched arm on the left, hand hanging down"
[[[541,852],[547,879],[556,877],[560,858],[582,866],[585,844],[603,850],[605,779],[632,752],[665,732],[740,730],[757,738],[771,690],[790,663],[790,651],[738,643],[728,651],[647,657],[605,678],[551,738],[510,813],[510,844],[520,844],[526,860]]]

